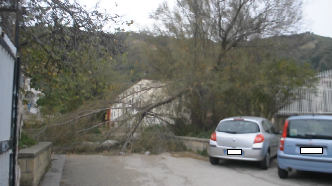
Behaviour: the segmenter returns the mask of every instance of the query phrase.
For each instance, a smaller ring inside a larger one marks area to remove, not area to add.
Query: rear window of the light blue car
[[[332,139],[331,120],[296,119],[288,123],[287,137]]]

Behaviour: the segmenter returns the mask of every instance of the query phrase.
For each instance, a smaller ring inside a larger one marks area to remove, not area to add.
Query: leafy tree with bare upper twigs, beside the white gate
[[[1,1],[14,6],[14,1]],[[22,71],[31,86],[44,94],[38,105],[63,112],[117,86],[116,56],[124,42],[112,32],[124,31],[117,14],[88,10],[76,0],[26,0],[20,15],[19,52]],[[12,33],[12,14],[1,13],[1,26]],[[11,19],[10,19],[11,18]],[[110,28],[115,28],[113,31]]]

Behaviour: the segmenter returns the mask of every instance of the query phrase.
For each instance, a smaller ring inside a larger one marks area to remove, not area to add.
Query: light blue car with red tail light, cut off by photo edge
[[[332,116],[291,116],[285,121],[277,153],[278,175],[292,169],[332,173]]]

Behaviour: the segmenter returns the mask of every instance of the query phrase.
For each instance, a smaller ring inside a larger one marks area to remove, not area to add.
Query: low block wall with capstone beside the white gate
[[[38,186],[51,160],[51,142],[39,142],[19,151],[21,186]]]

